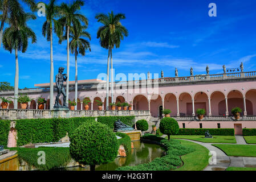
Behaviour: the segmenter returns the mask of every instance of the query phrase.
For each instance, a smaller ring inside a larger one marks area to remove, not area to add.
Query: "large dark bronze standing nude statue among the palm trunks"
[[[64,85],[63,85],[63,82],[67,81],[67,74],[62,74],[63,71],[64,71],[64,68],[60,67],[59,68],[59,73],[55,77],[56,88],[57,88],[58,94],[56,96],[54,108],[67,108],[68,109],[68,105],[67,105],[67,102],[66,102],[66,92],[65,92]],[[63,95],[63,106],[59,104],[60,94]]]

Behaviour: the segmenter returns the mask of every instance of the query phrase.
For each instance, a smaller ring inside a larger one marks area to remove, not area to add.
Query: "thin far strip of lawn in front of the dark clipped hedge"
[[[170,138],[189,139],[204,143],[237,143],[234,136],[213,136],[205,138],[203,135],[174,135]]]

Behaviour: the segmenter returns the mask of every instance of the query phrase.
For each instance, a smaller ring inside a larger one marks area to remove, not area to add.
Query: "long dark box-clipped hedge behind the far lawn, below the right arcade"
[[[209,131],[211,135],[234,136],[234,129],[179,129],[176,135],[205,135]]]

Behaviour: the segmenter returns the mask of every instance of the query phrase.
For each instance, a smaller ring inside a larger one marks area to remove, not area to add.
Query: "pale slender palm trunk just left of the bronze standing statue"
[[[50,24],[51,26],[51,73],[50,73],[50,110],[53,109],[54,106],[54,60],[53,60],[53,50],[52,50],[52,22]]]

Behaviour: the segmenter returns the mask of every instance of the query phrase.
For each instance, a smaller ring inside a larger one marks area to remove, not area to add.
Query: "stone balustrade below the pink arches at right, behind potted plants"
[[[197,116],[173,117],[177,121],[237,121],[233,116],[206,116],[202,120]],[[256,121],[255,115],[242,116],[238,121]]]

